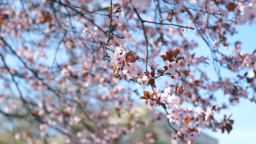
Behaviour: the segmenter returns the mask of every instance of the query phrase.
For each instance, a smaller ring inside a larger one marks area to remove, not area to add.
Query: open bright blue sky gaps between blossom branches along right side
[[[241,25],[237,28],[238,33],[232,37],[228,37],[228,42],[233,44],[230,46],[230,50],[234,49],[234,42],[240,41],[243,53],[252,53],[254,49],[256,49],[256,25]],[[201,52],[202,55],[207,55],[205,53],[208,50],[202,50],[203,48],[207,48],[205,43],[199,39],[198,37],[195,40],[199,43],[199,48],[196,49],[198,52]],[[201,49],[201,50],[199,50]],[[223,47],[220,49],[224,49]],[[210,53],[208,54],[210,56]],[[216,75],[213,70],[207,71],[208,75]],[[222,76],[228,76],[229,73],[222,73]],[[223,93],[219,94],[221,98],[220,101],[226,100],[224,98]],[[249,91],[249,98],[252,96],[252,91]],[[233,130],[228,134],[225,132],[224,134],[221,131],[212,132],[210,130],[203,130],[206,134],[211,137],[216,138],[219,141],[219,144],[255,144],[256,140],[256,104],[250,102],[249,99],[240,99],[240,103],[237,106],[231,106],[228,110],[221,111],[221,113],[217,116],[219,119],[223,119],[223,115],[232,114],[232,119],[235,120],[233,125]]]

